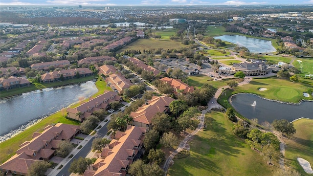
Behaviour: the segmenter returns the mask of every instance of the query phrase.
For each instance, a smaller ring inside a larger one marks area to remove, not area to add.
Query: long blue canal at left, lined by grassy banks
[[[0,141],[21,132],[38,119],[96,93],[94,82],[45,88],[0,101]]]

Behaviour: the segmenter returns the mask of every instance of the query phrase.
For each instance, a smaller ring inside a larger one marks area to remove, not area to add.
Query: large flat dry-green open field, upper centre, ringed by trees
[[[163,48],[167,49],[179,49],[181,47],[186,47],[185,45],[181,44],[181,42],[176,41],[169,41],[169,40],[157,40],[157,39],[139,39],[132,44],[128,44],[127,46],[123,47],[122,49],[118,50],[117,53],[124,52],[125,50],[134,49],[138,50],[147,50],[147,49],[156,49],[156,48]]]

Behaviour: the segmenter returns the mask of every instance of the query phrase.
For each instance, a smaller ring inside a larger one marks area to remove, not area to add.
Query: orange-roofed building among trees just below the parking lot
[[[179,79],[173,79],[173,78],[162,78],[160,81],[166,82],[167,84],[171,85],[172,88],[174,88],[174,93],[177,95],[179,93],[191,93],[195,89],[192,86],[187,85],[186,83],[181,82]]]

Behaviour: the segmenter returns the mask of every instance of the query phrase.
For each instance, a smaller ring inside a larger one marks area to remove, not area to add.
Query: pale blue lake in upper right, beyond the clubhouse
[[[272,46],[271,41],[255,39],[241,35],[223,35],[214,37],[214,39],[221,39],[222,41],[244,46],[249,49],[251,53],[267,53],[275,52],[276,49]]]

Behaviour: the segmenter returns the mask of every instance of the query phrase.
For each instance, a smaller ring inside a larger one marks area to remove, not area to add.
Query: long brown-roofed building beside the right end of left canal
[[[88,102],[81,104],[76,108],[67,108],[67,117],[79,121],[84,121],[92,115],[95,110],[109,109],[109,103],[113,101],[121,102],[122,98],[117,95],[117,92],[106,90],[103,94],[90,98]]]

